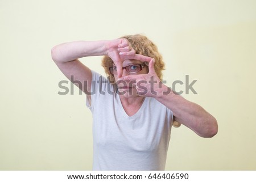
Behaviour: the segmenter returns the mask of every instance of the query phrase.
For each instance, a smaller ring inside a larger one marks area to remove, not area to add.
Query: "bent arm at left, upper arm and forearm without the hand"
[[[78,59],[86,56],[101,56],[107,54],[108,41],[73,41],[63,43],[52,48],[52,60],[62,73],[72,81],[82,84],[80,89],[86,93],[90,91],[92,71]]]

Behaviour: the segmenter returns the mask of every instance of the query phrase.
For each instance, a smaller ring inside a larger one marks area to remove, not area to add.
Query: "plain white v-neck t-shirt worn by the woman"
[[[92,71],[93,170],[164,170],[172,111],[146,97],[128,116],[108,79]]]

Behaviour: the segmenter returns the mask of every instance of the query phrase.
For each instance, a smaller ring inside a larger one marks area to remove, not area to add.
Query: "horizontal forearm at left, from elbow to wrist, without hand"
[[[73,41],[52,48],[52,59],[55,62],[69,62],[86,56],[102,56],[108,52],[107,40]]]

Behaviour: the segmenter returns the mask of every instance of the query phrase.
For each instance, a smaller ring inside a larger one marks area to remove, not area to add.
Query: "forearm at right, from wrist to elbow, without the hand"
[[[180,95],[174,94],[174,92],[164,84],[163,88],[158,90],[156,100],[166,105],[166,107],[174,113],[177,121],[192,129],[199,136],[213,137],[217,133],[217,121],[212,115],[205,111],[200,105],[192,103]]]

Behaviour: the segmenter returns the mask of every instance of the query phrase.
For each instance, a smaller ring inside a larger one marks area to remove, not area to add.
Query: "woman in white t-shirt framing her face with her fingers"
[[[78,60],[87,56],[104,56],[108,79]],[[162,56],[146,36],[64,43],[52,59],[82,83],[93,113],[93,170],[164,170],[174,121],[201,137],[217,133],[212,115],[161,82]]]

